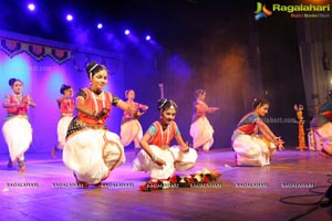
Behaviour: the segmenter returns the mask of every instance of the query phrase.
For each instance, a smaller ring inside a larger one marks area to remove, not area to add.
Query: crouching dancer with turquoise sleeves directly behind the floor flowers
[[[142,150],[134,160],[135,171],[148,171],[152,179],[167,179],[177,171],[186,171],[195,166],[197,152],[183,140],[174,122],[176,104],[170,99],[158,101],[160,119],[154,122],[141,140]],[[175,137],[178,146],[170,146]]]

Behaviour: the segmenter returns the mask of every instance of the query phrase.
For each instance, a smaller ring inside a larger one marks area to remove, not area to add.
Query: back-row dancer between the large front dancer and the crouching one
[[[138,122],[138,118],[145,114],[148,109],[148,106],[134,102],[135,92],[134,90],[127,90],[125,92],[125,96],[127,98],[126,103],[135,109],[137,113],[135,118],[132,113],[124,112],[121,124],[121,143],[124,147],[128,146],[132,141],[135,144],[135,152],[138,152],[141,145],[139,140],[143,137],[142,126]]]

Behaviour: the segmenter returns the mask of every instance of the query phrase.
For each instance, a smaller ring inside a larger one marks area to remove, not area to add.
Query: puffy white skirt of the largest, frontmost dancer
[[[105,129],[83,129],[68,138],[62,159],[80,181],[97,185],[125,162],[125,155],[116,134]]]

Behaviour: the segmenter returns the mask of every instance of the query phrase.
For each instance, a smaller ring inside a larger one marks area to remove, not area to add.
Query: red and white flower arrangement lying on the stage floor
[[[168,179],[151,179],[145,185],[139,187],[139,191],[149,192],[152,190],[162,190],[169,188],[191,188],[201,185],[217,182],[221,176],[216,170],[203,169],[193,175],[178,176],[174,175]]]

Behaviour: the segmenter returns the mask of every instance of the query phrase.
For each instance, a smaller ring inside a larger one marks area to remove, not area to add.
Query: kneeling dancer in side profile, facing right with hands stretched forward
[[[270,165],[271,155],[277,147],[283,149],[284,141],[260,118],[268,113],[269,102],[255,98],[252,108],[252,112],[242,117],[231,138],[237,166]]]

